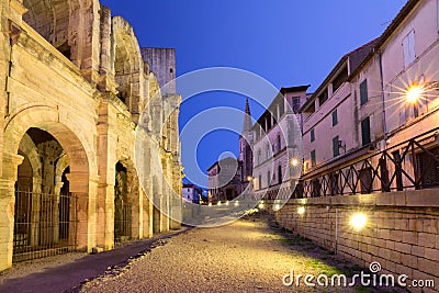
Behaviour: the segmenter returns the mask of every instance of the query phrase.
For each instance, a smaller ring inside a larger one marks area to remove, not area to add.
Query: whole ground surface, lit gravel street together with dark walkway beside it
[[[52,268],[19,279],[0,274],[0,292],[373,292],[309,288],[303,281],[285,286],[282,279],[292,270],[295,277],[330,277],[359,268],[258,216],[136,241],[68,264],[46,262]]]

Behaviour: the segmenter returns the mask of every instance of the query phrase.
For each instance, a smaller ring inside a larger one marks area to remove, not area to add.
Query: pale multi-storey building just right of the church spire
[[[299,109],[307,100],[308,88],[282,88],[251,127],[252,183],[258,198],[288,198],[294,190],[302,166],[302,146],[296,144],[302,135]]]

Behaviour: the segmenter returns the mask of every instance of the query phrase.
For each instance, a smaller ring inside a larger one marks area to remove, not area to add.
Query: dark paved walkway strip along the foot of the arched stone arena
[[[110,267],[126,266],[130,258],[161,245],[169,237],[183,233],[168,232],[150,239],[137,240],[97,255],[72,252],[14,264],[0,272],[0,292],[75,292],[85,281],[102,274]]]

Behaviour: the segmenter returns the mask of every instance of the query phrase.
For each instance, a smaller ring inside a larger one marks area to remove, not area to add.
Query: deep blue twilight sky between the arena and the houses
[[[249,70],[277,88],[315,90],[346,53],[378,37],[405,0],[101,0],[134,27],[142,47],[177,49],[177,76],[226,66]],[[244,110],[245,97],[198,94],[181,105],[180,129],[207,109]],[[263,108],[250,101],[254,119]],[[237,128],[241,128],[240,125]],[[238,123],[238,124],[239,124]],[[199,137],[184,155],[205,171],[224,151],[238,154],[238,134],[224,129]],[[185,147],[184,139],[182,148]],[[204,184],[206,184],[204,180]],[[199,184],[201,182],[198,182]]]

